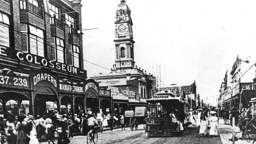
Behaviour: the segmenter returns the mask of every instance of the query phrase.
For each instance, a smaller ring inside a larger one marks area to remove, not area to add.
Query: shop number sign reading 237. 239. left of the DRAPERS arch
[[[27,77],[0,74],[0,85],[20,89],[30,89],[30,80]]]

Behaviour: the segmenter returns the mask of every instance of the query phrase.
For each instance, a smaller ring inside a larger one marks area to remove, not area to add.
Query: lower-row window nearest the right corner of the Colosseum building
[[[69,54],[71,55],[72,59],[70,59],[71,65],[79,68],[79,59],[80,59],[80,49],[78,46],[71,45],[69,47]]]

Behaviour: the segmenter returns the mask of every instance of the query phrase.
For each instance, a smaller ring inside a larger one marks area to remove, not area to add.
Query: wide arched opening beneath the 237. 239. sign
[[[4,114],[9,110],[15,116],[18,116],[21,110],[29,113],[29,98],[19,92],[1,92],[0,93],[0,114]]]

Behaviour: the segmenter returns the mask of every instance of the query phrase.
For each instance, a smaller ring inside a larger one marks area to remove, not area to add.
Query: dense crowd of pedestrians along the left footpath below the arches
[[[58,111],[36,116],[25,113],[24,110],[15,116],[11,110],[3,117],[0,116],[0,135],[6,136],[8,144],[37,144],[40,139],[47,139],[54,144],[54,138],[58,137],[58,144],[68,144],[69,138],[74,135],[87,135],[93,126],[103,127],[121,126],[124,128],[124,116],[113,114],[113,117],[105,113],[77,113],[59,114]]]

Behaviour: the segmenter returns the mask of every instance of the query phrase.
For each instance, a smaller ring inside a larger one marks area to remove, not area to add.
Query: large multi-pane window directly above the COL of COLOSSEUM
[[[22,52],[45,57],[43,30],[27,24],[20,24],[20,32]]]

